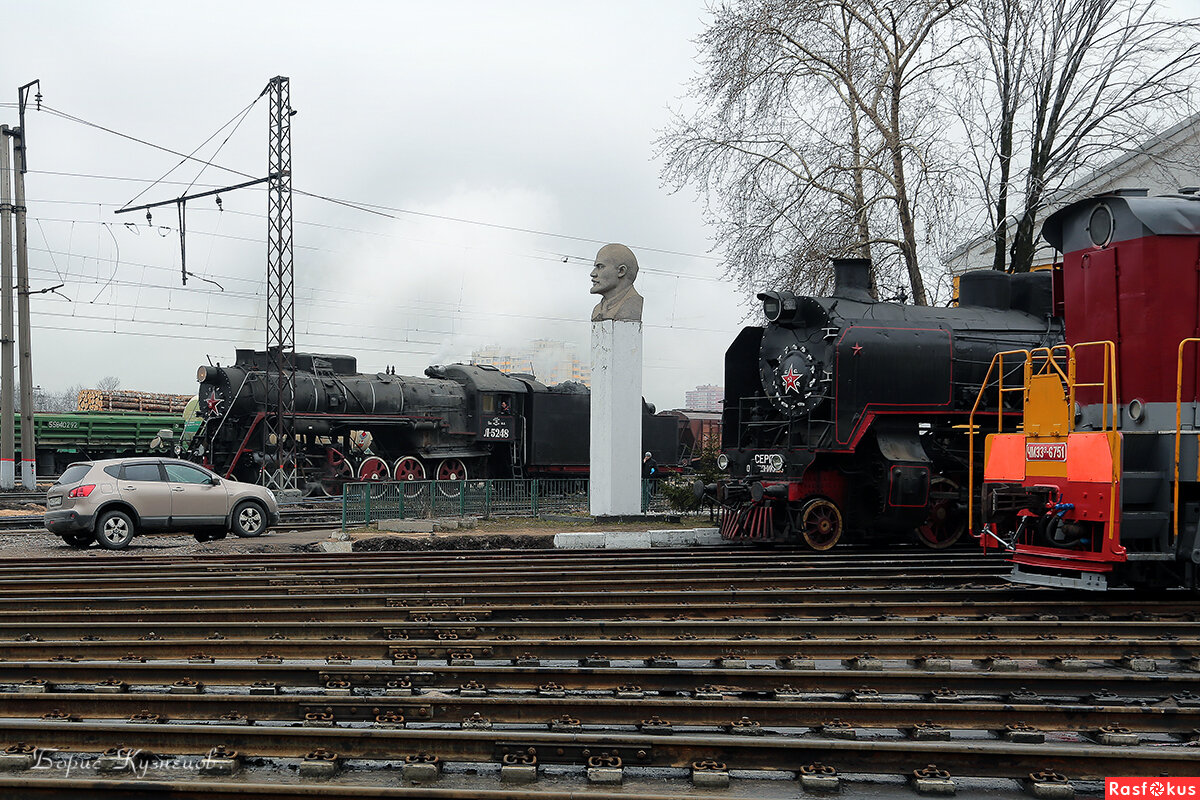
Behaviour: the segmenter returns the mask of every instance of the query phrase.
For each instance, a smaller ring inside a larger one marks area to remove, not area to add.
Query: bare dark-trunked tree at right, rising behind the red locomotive
[[[1154,0],[978,0],[961,20],[986,67],[959,85],[980,89],[960,108],[994,266],[1027,271],[1051,196],[1193,110],[1198,28]]]

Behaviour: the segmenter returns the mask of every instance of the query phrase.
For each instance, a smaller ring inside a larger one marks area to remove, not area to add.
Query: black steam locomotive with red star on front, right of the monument
[[[930,308],[876,302],[869,276],[870,261],[844,259],[829,297],[760,294],[767,326],[726,351],[728,477],[697,486],[725,539],[824,551],[844,533],[916,531],[943,548],[965,530],[968,414],[996,353],[1061,341],[1051,277],[971,272],[958,307]],[[990,397],[1014,417],[1019,401]]]

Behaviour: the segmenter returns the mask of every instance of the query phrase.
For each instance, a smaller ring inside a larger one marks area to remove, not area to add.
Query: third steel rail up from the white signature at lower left
[[[457,692],[464,685],[485,690],[535,691],[556,684],[566,691],[612,692],[620,686],[637,686],[653,693],[696,692],[700,687],[721,694],[751,693],[774,696],[804,692],[853,697],[862,688],[883,694],[935,697],[935,690],[959,696],[991,698],[1018,697],[1030,692],[1039,697],[1087,700],[1091,692],[1157,703],[1172,694],[1200,694],[1200,672],[1130,673],[1091,669],[1064,673],[1051,669],[1021,672],[930,670],[912,668],[857,669],[731,669],[716,667],[538,667],[430,664],[336,666],[313,663],[220,662],[133,662],[133,661],[0,661],[0,682],[17,688],[26,680],[44,680],[50,688],[72,685],[92,688],[101,681],[139,687],[163,687],[182,679],[198,680],[208,687],[248,687],[254,684],[292,688],[324,688],[329,681],[344,681],[354,691],[383,690],[390,684],[408,685],[410,691]]]

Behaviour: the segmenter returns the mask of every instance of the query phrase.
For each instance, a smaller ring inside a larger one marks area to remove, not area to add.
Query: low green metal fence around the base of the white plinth
[[[380,519],[586,515],[588,480],[372,481],[347,483],[342,530]],[[668,510],[659,481],[642,481],[642,511]]]

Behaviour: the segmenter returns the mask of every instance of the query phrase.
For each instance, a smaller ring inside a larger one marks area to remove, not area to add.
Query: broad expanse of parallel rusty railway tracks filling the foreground
[[[0,792],[648,799],[796,796],[799,780],[854,796],[906,777],[1068,796],[1195,774],[1194,596],[1015,589],[970,552],[928,563],[0,560],[0,764],[16,770]],[[54,768],[70,759],[86,766]]]

